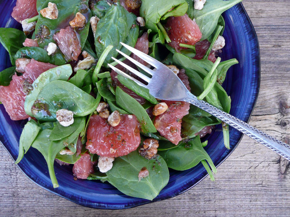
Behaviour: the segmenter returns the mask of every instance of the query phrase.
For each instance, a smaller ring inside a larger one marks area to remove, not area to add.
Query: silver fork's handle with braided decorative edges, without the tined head
[[[251,137],[252,139],[266,146],[267,148],[270,148],[272,151],[276,152],[277,154],[290,161],[290,145],[283,143],[282,141],[264,133],[263,131],[249,125],[244,121],[233,117],[232,115],[224,111],[221,111],[220,109],[210,105],[203,100],[197,99],[197,97],[192,94],[188,95],[190,98],[186,98],[184,99],[184,101],[199,107],[200,109],[206,111],[217,119],[229,124],[233,128],[237,129],[243,134],[246,134],[247,136]]]

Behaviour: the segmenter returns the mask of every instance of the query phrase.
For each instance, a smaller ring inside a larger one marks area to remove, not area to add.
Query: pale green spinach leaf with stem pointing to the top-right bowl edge
[[[242,0],[207,0],[202,10],[193,10],[192,19],[200,27],[203,34],[201,39],[207,39],[214,31],[223,12]]]

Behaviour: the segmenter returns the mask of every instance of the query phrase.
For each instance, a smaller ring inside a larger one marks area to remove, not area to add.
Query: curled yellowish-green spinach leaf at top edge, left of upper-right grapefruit
[[[174,10],[171,10],[174,8]],[[145,19],[145,26],[154,32],[158,32],[157,24],[161,19],[169,16],[183,16],[188,5],[185,0],[143,0],[140,7],[140,15]]]

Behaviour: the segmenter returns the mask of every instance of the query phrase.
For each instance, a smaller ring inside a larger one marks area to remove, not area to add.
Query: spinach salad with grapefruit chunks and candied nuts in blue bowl
[[[74,179],[109,182],[122,193],[152,200],[169,168],[216,168],[201,138],[222,124],[187,102],[154,98],[117,75],[116,49],[147,66],[120,42],[166,64],[199,99],[229,112],[221,86],[236,59],[221,61],[222,13],[241,0],[17,0],[12,17],[23,31],[0,28],[11,67],[0,72],[0,101],[14,121],[26,120],[19,163],[29,148],[47,162],[73,164]],[[129,72],[127,72],[129,73]],[[145,72],[144,72],[145,73]],[[134,75],[132,75],[134,76]]]

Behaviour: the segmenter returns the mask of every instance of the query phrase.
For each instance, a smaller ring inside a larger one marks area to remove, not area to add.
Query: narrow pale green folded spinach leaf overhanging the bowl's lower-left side
[[[15,164],[18,164],[22,160],[24,154],[28,151],[33,141],[37,137],[40,129],[41,127],[38,126],[38,124],[34,120],[30,120],[25,124],[20,136],[19,153]]]

